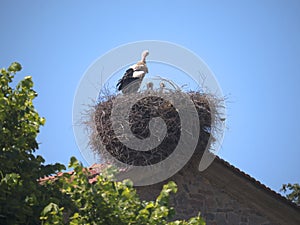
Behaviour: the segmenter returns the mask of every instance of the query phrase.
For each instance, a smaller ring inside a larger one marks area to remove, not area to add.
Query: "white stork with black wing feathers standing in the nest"
[[[138,91],[142,80],[146,73],[148,73],[148,67],[146,65],[146,57],[148,55],[148,50],[143,51],[141,60],[126,70],[125,74],[116,85],[118,91],[122,91],[123,94],[135,93]]]

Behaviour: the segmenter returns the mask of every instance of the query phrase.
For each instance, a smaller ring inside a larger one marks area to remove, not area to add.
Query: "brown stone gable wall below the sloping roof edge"
[[[171,197],[171,205],[176,210],[175,219],[188,219],[200,211],[207,225],[279,224],[277,221],[270,221],[263,212],[247,202],[243,195],[233,196],[229,194],[226,185],[222,187],[209,179],[209,168],[208,171],[199,172],[198,162],[199,157],[195,157],[169,179],[178,185],[178,192]],[[137,191],[142,199],[154,200],[166,182],[137,187]]]

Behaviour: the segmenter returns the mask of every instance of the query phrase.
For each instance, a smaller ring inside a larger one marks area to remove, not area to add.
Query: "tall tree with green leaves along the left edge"
[[[33,106],[37,93],[30,76],[11,87],[21,69],[15,62],[0,70],[0,224],[39,224],[40,211],[55,195],[48,198],[50,189],[37,180],[64,168],[43,165],[43,157],[34,155],[45,119]]]

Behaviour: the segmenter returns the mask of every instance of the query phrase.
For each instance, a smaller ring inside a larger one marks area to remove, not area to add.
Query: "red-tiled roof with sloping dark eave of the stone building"
[[[108,165],[93,164],[88,167],[91,173],[89,182],[96,182],[97,175]],[[67,173],[72,174],[73,172]],[[40,181],[43,183],[46,180],[53,180],[62,174],[58,173],[56,176],[42,178]],[[218,156],[205,171],[201,172],[201,175],[212,180],[218,187],[226,189],[231,195],[246,199],[249,204],[255,206],[280,224],[286,224],[287,218],[291,221],[289,224],[300,224],[300,206]]]

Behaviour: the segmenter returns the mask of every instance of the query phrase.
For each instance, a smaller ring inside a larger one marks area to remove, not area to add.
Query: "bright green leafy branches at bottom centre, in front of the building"
[[[174,215],[174,209],[168,205],[170,193],[177,190],[174,182],[164,185],[156,201],[147,202],[139,199],[131,181],[114,181],[111,167],[91,183],[91,174],[74,157],[69,166],[73,174],[66,173],[55,182],[60,183],[62,192],[70,197],[75,207],[70,211],[61,205],[49,204],[41,217],[45,225],[205,224],[200,216],[189,221],[167,222]]]

